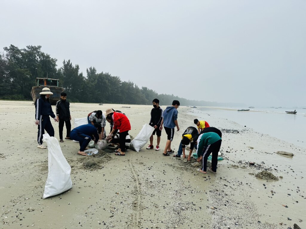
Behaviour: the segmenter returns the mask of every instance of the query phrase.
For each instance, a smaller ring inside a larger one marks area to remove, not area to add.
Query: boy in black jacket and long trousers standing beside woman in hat
[[[61,99],[56,102],[56,119],[58,122],[58,130],[59,130],[59,141],[64,142],[63,140],[63,128],[64,123],[66,125],[67,134],[65,139],[70,139],[70,131],[71,131],[71,115],[69,110],[69,102],[66,100],[67,94],[65,92],[61,93]]]

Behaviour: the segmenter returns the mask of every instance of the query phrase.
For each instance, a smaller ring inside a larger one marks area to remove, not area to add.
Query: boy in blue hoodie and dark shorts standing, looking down
[[[162,130],[162,125],[164,125],[167,134],[166,147],[164,152],[162,153],[163,156],[169,156],[169,153],[174,153],[174,151],[171,150],[171,142],[174,136],[174,127],[177,128],[177,131],[180,130],[180,127],[178,127],[177,123],[177,108],[179,107],[180,102],[177,100],[173,100],[172,106],[168,106],[164,111],[164,116],[159,127],[159,129]]]

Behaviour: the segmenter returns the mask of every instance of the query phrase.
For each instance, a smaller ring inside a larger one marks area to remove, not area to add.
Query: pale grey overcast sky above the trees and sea
[[[0,47],[57,58],[159,94],[306,105],[306,1],[0,1]]]

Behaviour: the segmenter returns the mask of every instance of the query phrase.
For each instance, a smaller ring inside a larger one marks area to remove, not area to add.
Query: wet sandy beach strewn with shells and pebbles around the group
[[[195,126],[193,119],[207,120],[222,131],[224,160],[218,161],[217,174],[200,174],[191,166],[194,161],[162,156],[164,130],[160,151],[145,146],[138,153],[128,150],[124,157],[114,153],[80,156],[76,154],[79,144],[64,140],[60,146],[71,166],[73,187],[43,199],[48,149],[37,148],[33,102],[0,101],[0,105],[0,228],[287,229],[294,223],[306,228],[304,148],[230,120],[196,117],[191,108],[182,106],[172,149],[177,152],[183,131]],[[129,134],[135,137],[149,122],[152,106],[70,104],[72,118],[97,109],[104,113],[108,108],[128,116]],[[59,140],[58,123],[52,120],[52,124]],[[284,157],[277,151],[294,156]],[[85,167],[89,158],[97,165]],[[271,172],[277,180],[257,178],[262,171]]]

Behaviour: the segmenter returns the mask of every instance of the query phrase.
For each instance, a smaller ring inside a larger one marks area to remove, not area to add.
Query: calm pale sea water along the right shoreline
[[[196,116],[209,122],[209,115],[232,120],[242,126],[274,136],[278,139],[306,148],[306,109],[302,108],[248,108],[250,111],[237,111],[235,108],[200,107],[192,109]],[[287,114],[285,111],[297,111]],[[212,124],[210,124],[213,126]],[[224,127],[226,128],[226,127]]]

